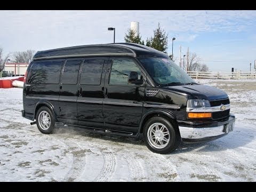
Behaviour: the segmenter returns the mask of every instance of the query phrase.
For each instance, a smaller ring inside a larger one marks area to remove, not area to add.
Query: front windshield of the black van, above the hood
[[[150,77],[160,86],[195,84],[194,80],[167,58],[138,58]]]

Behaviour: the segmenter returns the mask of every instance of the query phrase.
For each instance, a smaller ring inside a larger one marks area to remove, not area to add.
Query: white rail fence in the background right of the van
[[[210,79],[256,79],[256,71],[252,72],[203,72],[187,71],[192,78],[210,78]]]

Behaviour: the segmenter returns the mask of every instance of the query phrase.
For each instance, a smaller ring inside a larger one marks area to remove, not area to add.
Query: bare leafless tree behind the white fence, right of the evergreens
[[[209,68],[206,64],[201,63],[201,58],[196,53],[188,54],[187,71],[208,71]]]

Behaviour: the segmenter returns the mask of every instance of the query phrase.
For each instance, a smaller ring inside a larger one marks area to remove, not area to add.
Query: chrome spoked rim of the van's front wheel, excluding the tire
[[[148,128],[147,137],[153,147],[163,149],[170,141],[170,132],[164,124],[153,123]]]

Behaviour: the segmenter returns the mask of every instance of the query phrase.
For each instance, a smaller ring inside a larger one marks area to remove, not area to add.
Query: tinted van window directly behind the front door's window
[[[103,68],[103,59],[84,60],[80,84],[82,85],[100,85]]]

